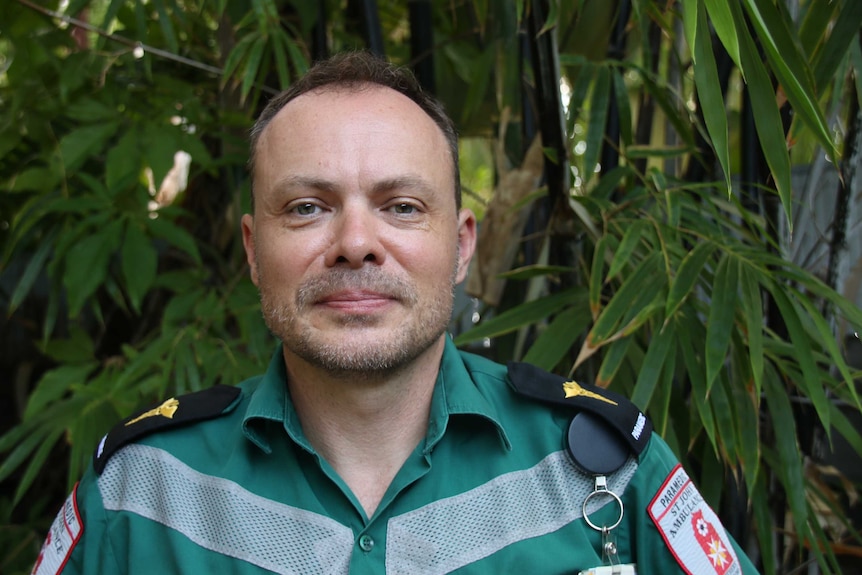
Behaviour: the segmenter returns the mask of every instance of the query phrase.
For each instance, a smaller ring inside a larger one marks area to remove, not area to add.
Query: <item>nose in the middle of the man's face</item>
[[[386,255],[380,241],[379,226],[379,218],[372,208],[349,206],[342,209],[333,221],[333,237],[326,252],[326,265],[346,265],[358,269],[366,263],[382,264]]]

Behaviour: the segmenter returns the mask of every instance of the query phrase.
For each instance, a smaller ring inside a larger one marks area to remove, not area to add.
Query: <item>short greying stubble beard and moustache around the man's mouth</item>
[[[398,371],[439,340],[452,315],[455,270],[448,290],[440,290],[433,299],[423,302],[413,285],[401,278],[368,266],[360,270],[335,269],[304,282],[292,305],[279,300],[277,286],[267,284],[261,272],[258,269],[261,309],[267,327],[288,351],[332,377],[368,379]],[[366,314],[339,317],[337,325],[327,330],[329,333],[312,327],[309,320],[315,313],[314,302],[343,289],[389,295],[408,315],[383,336],[363,333],[378,322],[378,318]],[[333,332],[339,331],[345,337],[333,341]]]

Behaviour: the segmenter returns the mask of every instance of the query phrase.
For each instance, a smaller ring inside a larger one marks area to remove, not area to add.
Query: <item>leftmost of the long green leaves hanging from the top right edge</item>
[[[730,19],[727,3],[724,0],[722,2],[725,6],[724,10],[727,12],[726,17]],[[693,67],[694,83],[697,86],[697,97],[706,130],[709,132],[718,163],[721,164],[721,169],[724,171],[724,185],[729,196],[731,193],[730,144],[728,143],[727,110],[724,105],[724,94],[721,92],[721,82],[718,79],[715,54],[712,51],[709,23],[706,21],[706,9],[703,6],[700,6],[697,16],[700,34],[697,35],[693,47],[697,56],[697,66]],[[724,16],[722,12],[722,17]],[[732,28],[732,26],[730,27]]]

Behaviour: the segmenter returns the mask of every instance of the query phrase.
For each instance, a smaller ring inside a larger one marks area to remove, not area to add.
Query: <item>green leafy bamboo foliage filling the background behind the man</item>
[[[462,134],[491,239],[459,343],[626,393],[764,572],[840,571],[862,554],[824,456],[862,454],[860,24],[855,0],[6,2],[0,572],[29,569],[115,421],[262,369],[246,130],[314,58],[366,47]],[[154,211],[177,151],[187,187]],[[791,173],[824,158],[812,271]]]

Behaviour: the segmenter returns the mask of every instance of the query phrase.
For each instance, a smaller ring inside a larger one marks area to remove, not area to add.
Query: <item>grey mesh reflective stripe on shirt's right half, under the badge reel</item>
[[[622,494],[637,463],[629,459],[608,489]],[[534,467],[507,473],[475,489],[435,501],[389,520],[386,573],[448,573],[504,547],[556,531],[583,515],[595,488],[562,451]],[[594,497],[600,509],[610,497]],[[601,501],[599,501],[601,499]]]

